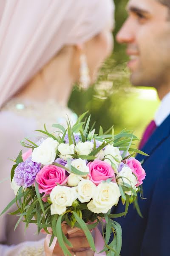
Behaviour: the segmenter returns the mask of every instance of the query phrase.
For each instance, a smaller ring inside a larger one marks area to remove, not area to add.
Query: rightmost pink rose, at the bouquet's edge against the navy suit
[[[127,159],[126,163],[129,166],[129,168],[132,170],[134,175],[136,175],[137,177],[138,183],[136,184],[136,186],[140,186],[143,183],[142,180],[144,180],[144,178],[146,177],[146,172],[142,168],[141,163],[134,158],[129,160]]]

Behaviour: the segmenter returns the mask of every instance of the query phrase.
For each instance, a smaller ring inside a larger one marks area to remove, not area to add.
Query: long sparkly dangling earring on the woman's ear
[[[89,69],[85,54],[80,55],[80,80],[79,87],[86,90],[90,85]]]

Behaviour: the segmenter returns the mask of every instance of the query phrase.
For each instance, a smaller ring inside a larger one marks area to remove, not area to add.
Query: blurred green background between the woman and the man
[[[116,0],[115,4],[114,38],[127,17],[127,0]],[[69,107],[77,115],[88,110],[91,125],[96,121],[97,129],[102,125],[106,131],[114,125],[115,133],[127,128],[141,137],[145,126],[153,119],[159,100],[153,88],[132,87],[127,60],[125,46],[115,42],[114,51],[103,64],[97,83],[86,92],[80,92],[75,87]]]

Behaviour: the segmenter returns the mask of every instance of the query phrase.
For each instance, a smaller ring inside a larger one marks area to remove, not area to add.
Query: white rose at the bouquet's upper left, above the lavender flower
[[[36,163],[42,163],[48,165],[54,163],[57,151],[57,140],[53,138],[47,138],[44,140],[38,148],[34,148],[32,152],[32,161]]]

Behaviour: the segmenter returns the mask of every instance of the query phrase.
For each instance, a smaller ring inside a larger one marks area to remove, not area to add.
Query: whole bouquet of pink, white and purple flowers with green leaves
[[[133,142],[139,139],[130,131],[114,135],[113,128],[108,134],[100,127],[96,134],[93,127],[89,128],[90,116],[82,122],[86,114],[73,126],[68,120],[67,129],[54,124],[53,134],[44,125],[43,131],[38,130],[43,138],[37,143],[28,139],[21,142],[29,150],[20,152],[11,169],[16,198],[1,214],[16,203],[18,209],[10,213],[19,216],[15,228],[20,221],[26,227],[36,224],[38,233],[43,229],[51,234],[49,246],[57,237],[64,255],[69,256],[66,244],[71,247],[71,243],[62,232],[62,223],[82,229],[94,251],[91,230],[100,223],[105,245],[99,253],[117,256],[122,230],[114,218],[126,215],[131,203],[140,214],[137,192],[140,193],[145,172],[133,156],[144,153],[134,147]],[[111,214],[119,200],[125,204],[125,212]],[[114,239],[109,244],[112,232]]]

